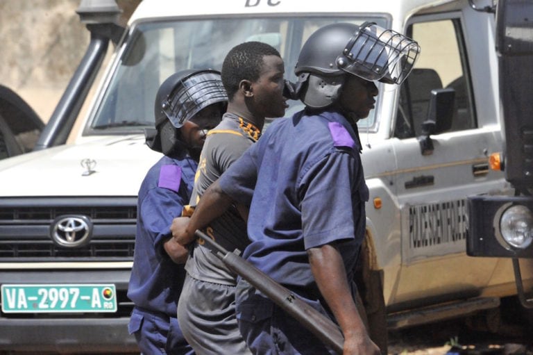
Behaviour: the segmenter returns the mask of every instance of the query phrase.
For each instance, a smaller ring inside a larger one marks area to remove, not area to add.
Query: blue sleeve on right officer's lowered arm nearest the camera
[[[358,156],[334,151],[305,173],[298,188],[305,249],[355,238],[362,208]],[[364,184],[364,181],[363,181]],[[364,213],[362,214],[364,217]]]

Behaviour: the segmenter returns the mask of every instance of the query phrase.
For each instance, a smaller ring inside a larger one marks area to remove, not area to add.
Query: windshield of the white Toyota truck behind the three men
[[[226,53],[246,41],[267,42],[278,49],[285,61],[285,79],[294,82],[300,49],[317,28],[334,22],[362,24],[369,20],[387,25],[387,20],[381,17],[217,18],[139,23],[130,30],[108,78],[109,85],[101,93],[84,133],[133,133],[153,126],[155,93],[164,79],[183,69],[221,70]],[[289,101],[289,105],[287,117],[303,108],[301,101]],[[373,110],[359,124],[366,129],[374,122]]]

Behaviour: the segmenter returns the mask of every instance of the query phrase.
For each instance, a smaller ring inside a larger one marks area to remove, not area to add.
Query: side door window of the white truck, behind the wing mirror
[[[428,115],[430,92],[440,88],[455,90],[451,131],[476,127],[460,28],[459,19],[419,22],[407,28],[407,33],[422,50],[412,74],[400,88],[394,129],[396,138],[421,135],[421,124]]]

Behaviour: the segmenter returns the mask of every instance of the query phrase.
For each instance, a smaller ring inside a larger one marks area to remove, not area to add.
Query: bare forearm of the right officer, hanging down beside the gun
[[[307,255],[316,284],[344,333],[343,354],[380,354],[359,317],[337,248],[326,244],[308,249]]]

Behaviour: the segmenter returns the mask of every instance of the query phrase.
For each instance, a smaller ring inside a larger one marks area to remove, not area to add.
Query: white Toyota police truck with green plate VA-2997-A
[[[296,81],[301,45],[332,22],[376,22],[421,46],[409,79],[379,83],[375,109],[359,122],[369,315],[386,312],[399,328],[498,307],[516,294],[511,262],[466,256],[466,197],[512,192],[489,169],[502,147],[491,10],[490,0],[143,0],[122,37],[112,25],[95,31],[117,46],[87,115],[76,108],[91,81],[72,81],[41,149],[0,161],[0,350],[135,352],[126,290],[137,191],[160,158],[143,135],[160,83],[181,69],[221,69],[248,40],[276,47]],[[87,53],[101,53],[101,42]],[[84,60],[96,72],[99,60]],[[301,108],[292,101],[286,115]],[[82,129],[65,144],[77,119]],[[533,263],[523,270],[530,288]]]

